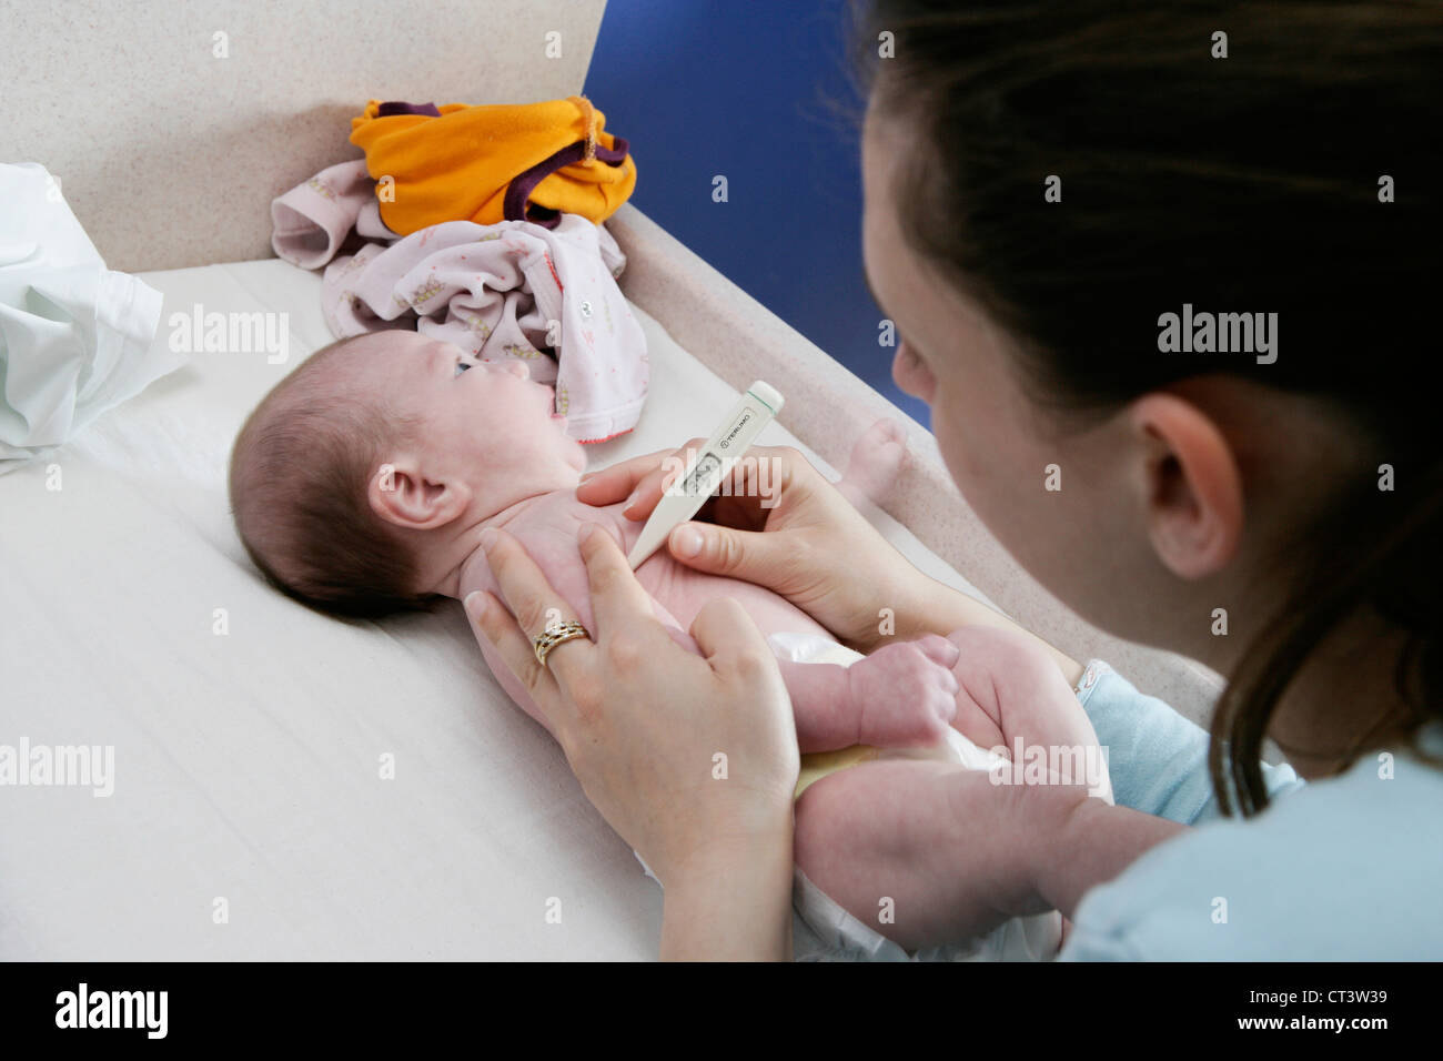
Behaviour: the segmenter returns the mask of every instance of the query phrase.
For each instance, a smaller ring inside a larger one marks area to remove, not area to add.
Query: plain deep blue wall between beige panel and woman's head
[[[863,279],[846,25],[843,0],[610,0],[586,95],[631,143],[638,209],[928,424]]]

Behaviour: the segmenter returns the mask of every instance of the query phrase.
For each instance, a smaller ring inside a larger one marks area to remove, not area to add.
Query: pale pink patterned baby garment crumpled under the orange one
[[[381,222],[364,162],[332,166],[271,204],[277,256],[326,267],[332,335],[414,328],[481,361],[515,358],[556,387],[556,411],[580,442],[636,426],[646,400],[646,338],[616,277],[626,256],[579,214],[530,221],[447,221],[397,238]],[[351,231],[365,243],[354,256]]]

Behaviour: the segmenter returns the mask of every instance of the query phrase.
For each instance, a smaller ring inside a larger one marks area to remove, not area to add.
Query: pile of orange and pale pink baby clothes
[[[372,100],[351,121],[365,159],[271,202],[271,245],[326,271],[336,338],[414,328],[481,361],[524,361],[580,442],[636,426],[646,339],[602,221],[636,186],[606,115],[573,95],[525,105]]]

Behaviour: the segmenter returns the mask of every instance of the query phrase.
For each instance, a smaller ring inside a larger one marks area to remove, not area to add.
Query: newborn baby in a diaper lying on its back
[[[856,497],[859,482],[885,479],[903,452],[879,424],[857,445],[844,491]],[[622,515],[625,502],[597,508],[576,499],[586,463],[554,411],[551,388],[531,383],[524,364],[478,364],[447,342],[395,329],[332,344],[283,380],[241,429],[229,488],[251,559],[273,585],[320,611],[381,616],[436,596],[499,596],[479,544],[482,530],[498,527],[521,541],[592,629],[577,530],[596,523],[628,553],[642,524]],[[861,657],[778,593],[690,570],[665,549],[636,579],[658,619],[687,644],[694,642],[685,631],[714,596],[734,598],[769,635],[804,754],[798,794],[824,782],[797,804],[797,908],[828,947],[906,957],[902,946],[938,943],[945,909],[929,905],[945,896],[932,882],[967,865],[965,850],[935,842],[947,814],[945,803],[929,797],[939,762],[892,762],[882,774],[856,764],[929,758],[987,769],[1004,759],[978,746],[1097,743],[1075,699],[1069,710],[1056,697],[1049,706],[999,696],[1012,691],[1009,681],[1032,680],[1026,668],[1007,667],[1026,648],[1001,631],[970,626]],[[506,693],[545,726],[505,663],[485,642],[482,651]],[[1007,717],[999,703],[1009,704]],[[814,755],[824,752],[835,755]],[[869,852],[885,849],[895,865],[899,844],[912,844],[900,859],[908,869],[882,873]],[[879,909],[892,901],[895,920],[879,924]],[[1051,957],[1061,924],[1055,912],[1016,918],[986,940],[948,940],[928,956]]]

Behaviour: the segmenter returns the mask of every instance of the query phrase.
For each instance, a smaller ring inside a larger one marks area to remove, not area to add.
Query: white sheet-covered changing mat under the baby
[[[283,342],[192,349],[0,476],[0,745],[51,765],[0,788],[0,957],[654,959],[659,889],[459,605],[328,619],[244,556],[229,445],[329,342],[320,277],[270,260],[141,279],[165,294],[157,344],[186,346],[211,313],[264,313]],[[593,468],[677,446],[736,398],[633,312],[651,400],[635,432],[587,447]],[[758,442],[814,458],[776,423]]]

